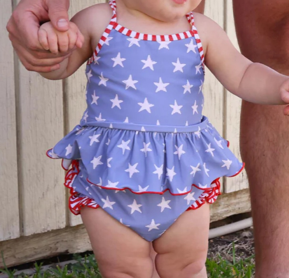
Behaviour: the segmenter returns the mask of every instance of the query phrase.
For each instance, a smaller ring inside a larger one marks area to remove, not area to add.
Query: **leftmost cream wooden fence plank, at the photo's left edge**
[[[0,241],[19,237],[16,112],[13,48],[5,29],[12,1],[0,9]]]

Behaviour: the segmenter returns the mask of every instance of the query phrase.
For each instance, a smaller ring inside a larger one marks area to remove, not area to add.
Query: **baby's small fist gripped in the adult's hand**
[[[66,32],[57,31],[51,22],[42,24],[38,31],[39,43],[45,50],[57,54],[67,52],[74,47],[82,47],[84,37],[73,22],[69,22],[69,30]]]

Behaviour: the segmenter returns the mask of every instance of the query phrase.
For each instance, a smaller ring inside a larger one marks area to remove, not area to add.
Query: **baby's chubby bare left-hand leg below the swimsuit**
[[[150,242],[120,224],[103,209],[81,209],[103,278],[151,278]]]

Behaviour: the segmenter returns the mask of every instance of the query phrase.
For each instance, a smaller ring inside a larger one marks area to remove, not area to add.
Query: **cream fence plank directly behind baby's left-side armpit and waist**
[[[71,0],[69,16],[72,17],[78,11],[106,2],[105,0]],[[81,66],[71,77],[65,80],[65,132],[68,133],[74,126],[79,124],[84,110],[86,109],[85,90],[86,90],[85,65]],[[67,190],[67,196],[69,191]],[[80,216],[75,216],[69,212],[69,225],[75,226],[82,223]]]

